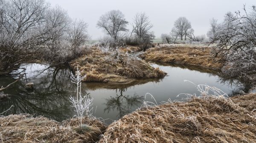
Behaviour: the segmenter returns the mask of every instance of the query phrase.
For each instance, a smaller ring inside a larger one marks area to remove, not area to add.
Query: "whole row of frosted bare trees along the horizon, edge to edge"
[[[128,22],[121,11],[108,11],[99,17],[96,26],[109,36],[105,43],[110,42],[113,47],[140,45],[145,50],[154,46],[153,25],[145,13],[137,13],[133,21]],[[249,12],[245,6],[244,11],[229,12],[220,23],[210,20],[207,36],[210,43],[216,44],[212,55],[228,61],[226,69],[233,65],[239,67],[233,72],[224,70],[224,73],[244,74],[235,72],[239,69],[250,71],[247,75],[256,73],[255,31],[255,6]],[[191,22],[179,17],[171,32],[162,34],[161,38],[165,43],[175,43],[177,39],[201,42],[205,36],[195,36]],[[70,18],[60,6],[52,7],[45,0],[0,0],[0,73],[9,73],[35,59],[49,63],[69,62],[82,53],[89,39],[87,23]]]

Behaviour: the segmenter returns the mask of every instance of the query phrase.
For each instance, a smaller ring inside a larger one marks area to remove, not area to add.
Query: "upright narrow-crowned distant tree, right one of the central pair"
[[[153,27],[145,13],[137,13],[134,17],[132,26],[133,30],[131,34],[135,33],[140,39],[143,38],[143,36],[148,35],[148,33],[150,33],[150,29]]]

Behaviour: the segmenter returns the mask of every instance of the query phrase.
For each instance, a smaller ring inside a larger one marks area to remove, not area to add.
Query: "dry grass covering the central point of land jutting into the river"
[[[92,48],[90,52],[71,61],[70,67],[73,70],[78,67],[83,75],[87,75],[83,81],[105,83],[127,84],[136,79],[163,78],[166,75],[162,70],[151,67],[144,60],[132,59],[122,64],[113,61],[114,57],[110,53]]]

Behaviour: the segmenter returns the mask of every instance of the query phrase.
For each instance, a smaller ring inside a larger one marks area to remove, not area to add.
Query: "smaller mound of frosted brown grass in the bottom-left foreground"
[[[31,115],[0,117],[0,143],[95,143],[106,128],[96,119],[83,123],[80,129],[77,118],[59,123]]]

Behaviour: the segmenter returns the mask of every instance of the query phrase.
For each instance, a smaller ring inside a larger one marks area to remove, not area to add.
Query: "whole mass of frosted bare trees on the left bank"
[[[86,24],[74,24],[60,6],[44,0],[0,0],[0,71],[8,73],[23,62],[39,59],[67,62],[74,56],[72,32],[79,33],[79,45],[87,39]]]

